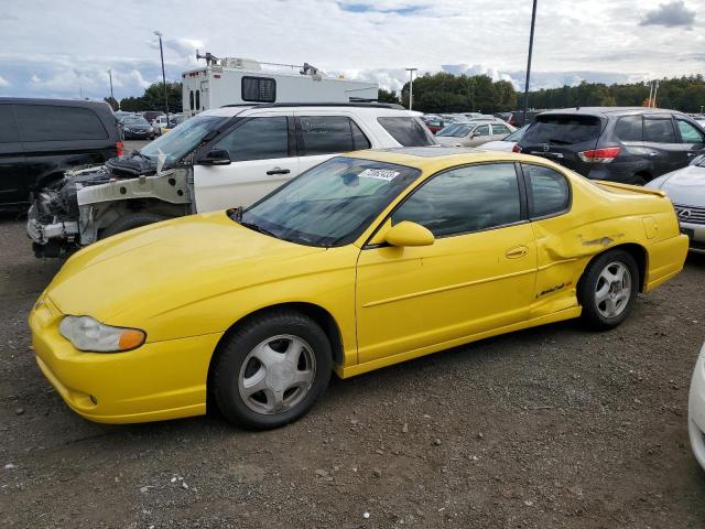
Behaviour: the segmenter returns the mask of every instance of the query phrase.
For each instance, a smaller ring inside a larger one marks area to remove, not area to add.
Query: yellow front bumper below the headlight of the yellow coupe
[[[36,363],[66,404],[96,422],[148,422],[206,412],[206,380],[221,334],[84,353],[58,333],[63,314],[43,294],[30,314]],[[148,338],[149,339],[149,338]]]

